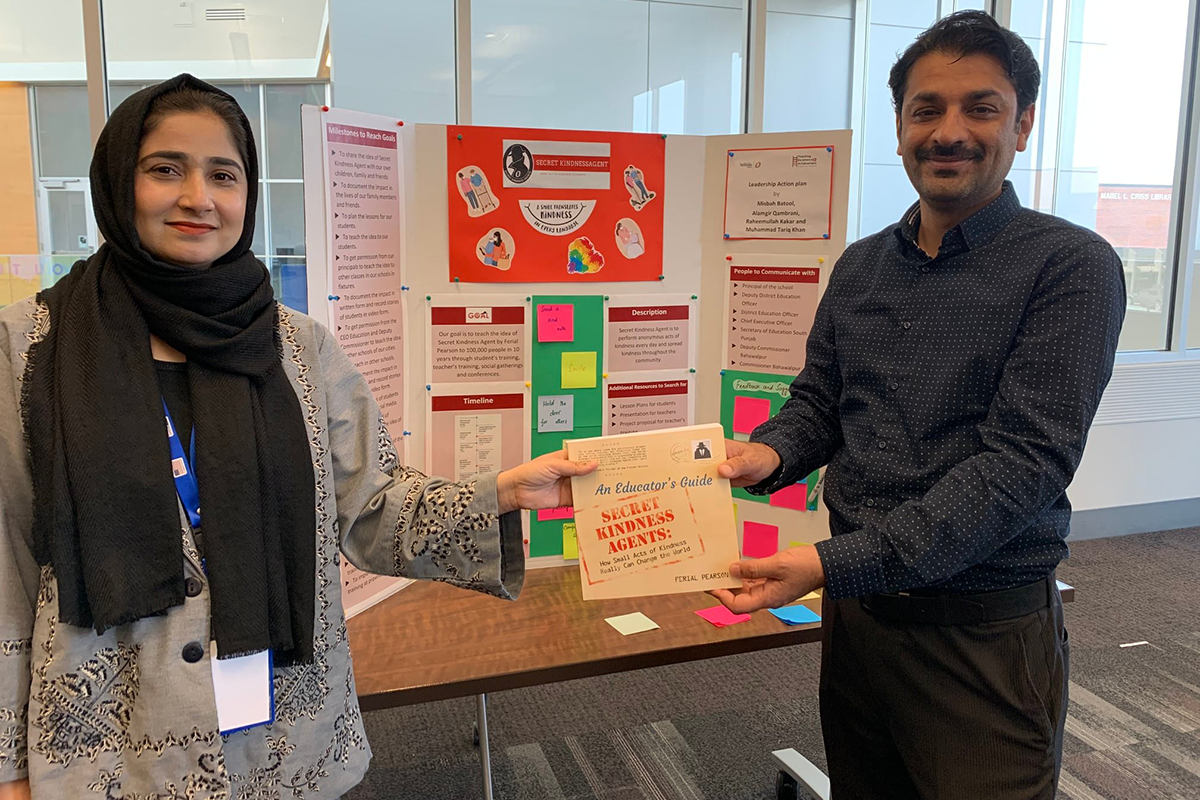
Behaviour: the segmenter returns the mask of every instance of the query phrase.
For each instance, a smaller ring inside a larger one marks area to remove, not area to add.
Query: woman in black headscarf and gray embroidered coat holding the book
[[[515,511],[590,469],[402,465],[329,331],[275,302],[257,187],[232,97],[143,90],[92,158],[104,246],[0,311],[0,798],[340,796],[371,757],[340,558],[512,599]],[[274,723],[222,736],[214,654],[268,651]]]

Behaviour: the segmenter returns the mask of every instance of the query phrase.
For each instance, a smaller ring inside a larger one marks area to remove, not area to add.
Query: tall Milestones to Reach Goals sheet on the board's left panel
[[[391,118],[322,115],[329,325],[366,379],[394,438],[404,431],[403,156]],[[410,582],[341,561],[353,616]]]

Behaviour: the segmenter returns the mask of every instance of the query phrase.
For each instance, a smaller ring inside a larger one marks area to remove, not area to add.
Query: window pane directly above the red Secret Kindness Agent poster
[[[740,0],[474,0],[476,125],[740,130]]]

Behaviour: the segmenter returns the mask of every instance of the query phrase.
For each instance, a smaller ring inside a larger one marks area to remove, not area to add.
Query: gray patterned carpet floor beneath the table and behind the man
[[[1073,545],[1060,798],[1200,799],[1198,576],[1200,528]],[[497,798],[774,798],[769,751],[824,768],[817,668],[797,646],[494,694]],[[473,720],[472,699],[367,714],[374,760],[346,800],[481,798]]]

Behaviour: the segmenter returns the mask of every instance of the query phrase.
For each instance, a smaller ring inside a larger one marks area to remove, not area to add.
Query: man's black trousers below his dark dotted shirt
[[[1052,800],[1069,645],[1057,591],[994,622],[889,621],[824,601],[832,800]]]

